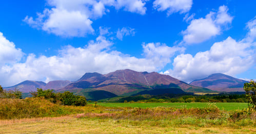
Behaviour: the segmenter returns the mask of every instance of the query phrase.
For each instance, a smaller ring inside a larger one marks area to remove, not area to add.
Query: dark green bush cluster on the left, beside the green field
[[[33,97],[44,97],[53,103],[61,103],[62,105],[84,106],[87,104],[86,98],[83,96],[76,96],[70,92],[54,93],[54,90],[42,90],[37,88],[37,92],[30,93]]]

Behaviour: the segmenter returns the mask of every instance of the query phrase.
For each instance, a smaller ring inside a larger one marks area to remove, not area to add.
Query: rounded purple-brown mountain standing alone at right
[[[243,86],[245,82],[247,81],[218,73],[204,79],[194,80],[189,84],[209,88],[212,91],[244,92]]]

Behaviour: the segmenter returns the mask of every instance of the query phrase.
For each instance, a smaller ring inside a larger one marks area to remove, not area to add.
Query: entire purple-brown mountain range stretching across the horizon
[[[243,92],[243,84],[247,82],[224,74],[212,74],[207,78],[186,83],[169,75],[156,72],[136,72],[117,70],[108,74],[85,73],[77,81],[55,80],[48,83],[42,81],[24,81],[5,90],[18,88],[23,93],[34,92],[37,88],[53,89],[56,92],[70,91],[85,95],[91,100],[116,96],[138,94],[179,94],[218,92]],[[159,92],[159,93],[157,93]],[[101,94],[101,95],[100,95]],[[99,97],[101,96],[101,97]]]

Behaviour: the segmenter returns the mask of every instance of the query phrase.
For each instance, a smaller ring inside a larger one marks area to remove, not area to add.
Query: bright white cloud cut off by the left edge
[[[21,60],[23,56],[22,50],[16,49],[15,44],[7,40],[0,32],[0,66],[15,63]]]

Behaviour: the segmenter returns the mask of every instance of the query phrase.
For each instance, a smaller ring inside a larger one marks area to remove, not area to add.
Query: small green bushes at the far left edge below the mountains
[[[20,92],[17,88],[14,90],[6,91],[0,85],[0,98],[22,99],[22,92]]]

